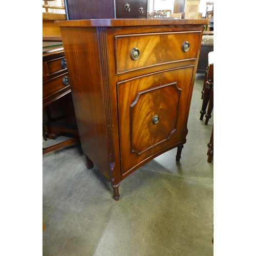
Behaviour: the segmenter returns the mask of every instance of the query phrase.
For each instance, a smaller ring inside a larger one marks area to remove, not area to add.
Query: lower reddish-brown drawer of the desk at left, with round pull
[[[68,73],[57,76],[47,82],[42,83],[42,99],[43,102],[50,100],[57,95],[70,89]]]

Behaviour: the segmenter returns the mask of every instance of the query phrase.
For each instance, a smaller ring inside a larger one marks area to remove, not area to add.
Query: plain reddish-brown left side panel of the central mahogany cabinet
[[[109,178],[96,28],[61,27],[82,150]]]

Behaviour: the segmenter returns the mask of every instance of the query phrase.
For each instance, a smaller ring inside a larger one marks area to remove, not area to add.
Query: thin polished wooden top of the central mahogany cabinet
[[[60,27],[126,27],[126,26],[159,26],[159,25],[205,25],[208,19],[79,19],[58,20],[56,26]]]

